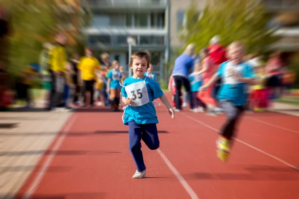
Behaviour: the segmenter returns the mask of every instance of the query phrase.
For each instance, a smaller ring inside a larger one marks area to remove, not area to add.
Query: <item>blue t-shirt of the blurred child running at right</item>
[[[245,105],[247,101],[247,84],[238,83],[230,76],[229,70],[237,70],[241,77],[253,78],[252,67],[248,62],[243,62],[237,66],[231,66],[231,62],[227,61],[220,65],[217,71],[218,77],[222,79],[222,85],[218,92],[218,100],[230,100],[234,105]]]

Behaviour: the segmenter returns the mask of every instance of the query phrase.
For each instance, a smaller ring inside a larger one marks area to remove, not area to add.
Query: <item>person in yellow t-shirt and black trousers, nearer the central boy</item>
[[[94,84],[97,71],[101,70],[100,62],[93,57],[93,50],[91,48],[85,49],[85,55],[81,58],[78,67],[79,75],[82,80],[81,97],[82,103],[85,106],[86,91],[90,92],[90,106],[94,105]]]

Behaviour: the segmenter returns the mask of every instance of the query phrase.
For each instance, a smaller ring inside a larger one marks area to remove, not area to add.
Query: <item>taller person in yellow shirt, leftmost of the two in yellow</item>
[[[62,108],[64,88],[66,84],[65,70],[67,63],[66,49],[64,45],[67,42],[66,35],[58,33],[56,35],[56,44],[50,51],[50,73],[52,79],[51,99],[48,110],[52,108]]]

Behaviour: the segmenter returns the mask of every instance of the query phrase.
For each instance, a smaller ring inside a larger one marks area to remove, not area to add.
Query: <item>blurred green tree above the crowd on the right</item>
[[[219,35],[223,45],[242,40],[247,53],[263,53],[280,39],[273,34],[276,29],[268,25],[269,21],[260,0],[207,0],[201,13],[196,4],[186,11],[180,39],[185,45],[194,43],[198,52],[209,45],[213,36]]]

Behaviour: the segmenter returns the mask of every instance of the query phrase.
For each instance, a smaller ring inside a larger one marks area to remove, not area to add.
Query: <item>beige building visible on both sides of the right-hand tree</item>
[[[299,51],[299,0],[261,0],[272,16],[273,26],[279,26],[276,34],[283,38],[274,44],[272,50],[296,53]],[[185,11],[189,8],[193,0],[171,0],[170,9],[170,46],[177,48],[183,45],[180,42],[179,28],[183,24]],[[197,0],[197,9],[200,12],[205,6],[206,0]],[[297,53],[296,53],[297,54]]]

